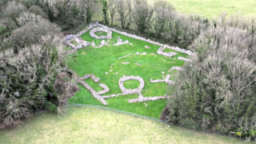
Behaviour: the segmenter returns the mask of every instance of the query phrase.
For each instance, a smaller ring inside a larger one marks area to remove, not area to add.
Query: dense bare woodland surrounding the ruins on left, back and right
[[[78,87],[65,65],[62,31],[90,23],[135,29],[197,56],[183,66],[166,112],[171,124],[255,138],[256,23],[242,15],[202,18],[146,0],[0,1],[0,127],[37,110],[65,113]],[[54,24],[61,21],[65,27]]]

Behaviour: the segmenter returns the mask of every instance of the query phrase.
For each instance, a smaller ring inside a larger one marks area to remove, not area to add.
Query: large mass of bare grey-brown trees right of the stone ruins
[[[169,102],[171,123],[253,136],[256,46],[249,37],[248,31],[227,26],[212,27],[194,40],[190,49],[198,55],[178,74]]]

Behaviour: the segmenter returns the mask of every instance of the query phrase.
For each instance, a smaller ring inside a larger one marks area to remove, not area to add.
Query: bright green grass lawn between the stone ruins
[[[100,45],[102,40],[94,39],[90,37],[89,32],[82,35],[82,38],[88,42],[95,42],[96,45]],[[118,38],[133,43],[133,46],[126,44],[122,46],[113,46],[113,42],[117,42]],[[78,50],[75,54],[77,57],[69,59],[69,66],[80,77],[84,74],[94,74],[100,78],[101,83],[104,83],[110,88],[110,92],[102,95],[110,94],[122,94],[118,86],[118,81],[123,75],[140,76],[145,81],[145,87],[142,90],[144,97],[163,96],[166,94],[167,83],[151,83],[150,78],[162,79],[166,74],[173,75],[175,70],[170,71],[172,66],[182,66],[184,61],[178,60],[178,56],[188,57],[186,54],[179,53],[174,58],[164,57],[157,54],[159,46],[154,46],[148,42],[136,40],[134,38],[126,37],[122,34],[113,32],[112,39],[109,42],[110,46],[103,46],[102,48],[95,49],[92,46],[88,46],[81,50]],[[145,46],[150,46],[150,49],[146,49]],[[174,50],[172,50],[174,51]],[[146,52],[146,55],[136,54]],[[126,58],[121,58],[127,54],[131,54]],[[72,55],[71,55],[72,56]],[[138,65],[139,64],[139,65]],[[112,68],[111,68],[112,66]],[[106,74],[106,72],[108,74]],[[162,74],[164,72],[165,74]],[[99,91],[102,88],[95,83],[92,79],[86,79],[90,86],[94,90]],[[127,81],[124,83],[126,88],[137,88],[139,83],[137,81]],[[83,103],[101,105],[96,98],[86,88],[79,85],[80,91],[70,99],[69,103]],[[106,102],[108,106],[119,110],[126,110],[137,114],[147,115],[153,118],[159,118],[163,108],[166,106],[166,100],[158,100],[155,102],[140,103],[128,103],[127,99],[138,98],[138,94],[130,94],[119,96],[117,98],[108,98]]]

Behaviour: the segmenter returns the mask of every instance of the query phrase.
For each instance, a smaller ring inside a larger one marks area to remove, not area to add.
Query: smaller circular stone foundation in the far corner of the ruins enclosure
[[[101,31],[106,32],[107,35],[102,35],[99,37],[98,35],[95,34],[96,32],[101,32]],[[96,27],[93,30],[90,30],[90,37],[96,38],[96,39],[111,39],[112,31],[104,27]]]

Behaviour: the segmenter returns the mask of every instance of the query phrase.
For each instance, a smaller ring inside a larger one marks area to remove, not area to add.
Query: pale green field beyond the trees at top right
[[[153,0],[149,0],[152,2]],[[226,11],[227,14],[256,15],[255,0],[166,0],[176,10],[186,14],[200,14],[207,18],[214,18]]]

